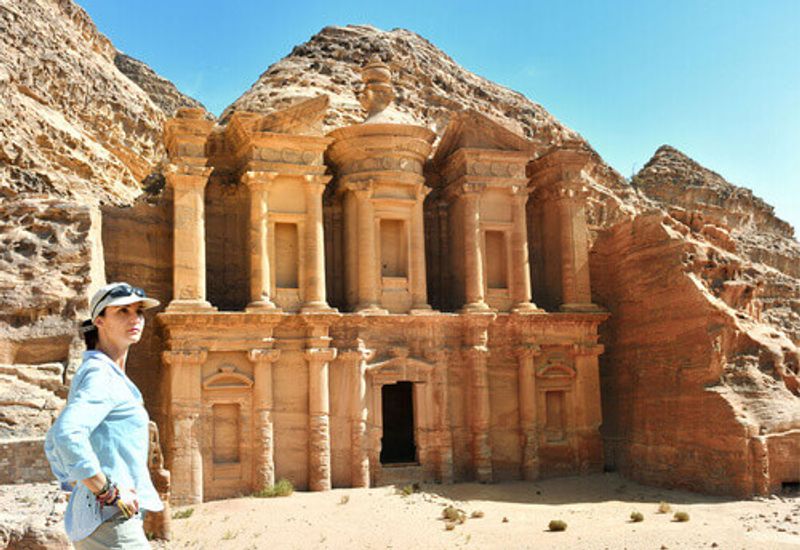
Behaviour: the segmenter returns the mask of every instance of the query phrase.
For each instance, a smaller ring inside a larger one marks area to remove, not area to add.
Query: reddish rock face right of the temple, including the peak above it
[[[602,232],[592,257],[595,298],[612,313],[607,464],[658,485],[780,491],[800,445],[792,228],[668,146],[633,183],[663,210]]]

